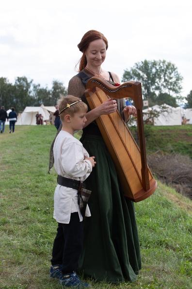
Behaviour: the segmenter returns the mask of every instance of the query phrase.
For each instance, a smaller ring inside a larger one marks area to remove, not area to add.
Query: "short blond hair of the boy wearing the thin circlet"
[[[71,104],[73,105],[67,107],[67,105],[71,105]],[[57,105],[59,107],[61,121],[64,120],[64,116],[67,114],[74,116],[74,113],[80,110],[87,112],[87,109],[88,109],[87,105],[83,101],[81,101],[79,97],[76,97],[73,95],[64,96],[63,94],[60,94],[60,98],[57,101]]]

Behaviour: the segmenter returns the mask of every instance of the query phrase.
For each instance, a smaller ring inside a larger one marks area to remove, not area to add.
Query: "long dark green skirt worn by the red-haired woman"
[[[96,166],[85,183],[91,190],[91,217],[83,221],[84,244],[79,270],[106,282],[134,282],[141,269],[134,202],[123,195],[112,158],[102,137],[83,135],[81,140]]]

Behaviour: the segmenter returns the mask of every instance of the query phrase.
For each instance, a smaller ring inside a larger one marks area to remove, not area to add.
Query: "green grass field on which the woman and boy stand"
[[[49,279],[57,175],[54,168],[48,174],[48,161],[56,128],[16,126],[8,132],[6,126],[0,134],[0,288],[62,288]],[[156,192],[135,209],[143,266],[138,280],[88,280],[91,288],[192,288],[192,201],[158,181]]]

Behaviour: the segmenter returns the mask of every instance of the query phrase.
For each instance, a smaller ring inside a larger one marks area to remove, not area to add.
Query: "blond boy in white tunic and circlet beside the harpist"
[[[60,95],[58,106],[63,127],[53,146],[54,166],[58,174],[53,217],[58,222],[58,228],[53,243],[50,277],[59,278],[59,283],[66,287],[84,288],[89,285],[80,281],[76,273],[83,242],[78,188],[96,162],[95,157],[89,157],[80,141],[73,136],[75,130],[85,125],[87,105],[78,97]],[[85,216],[91,216],[88,205]]]

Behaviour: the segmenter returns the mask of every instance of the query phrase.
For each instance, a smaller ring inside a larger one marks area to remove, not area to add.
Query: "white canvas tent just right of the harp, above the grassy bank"
[[[177,107],[173,108],[166,104],[162,106],[155,105],[152,108],[146,108],[143,110],[144,120],[147,119],[147,115],[150,110],[160,111],[162,107],[166,107],[166,111],[161,112],[159,117],[154,117],[154,126],[181,126],[182,125],[182,115],[183,108]]]

